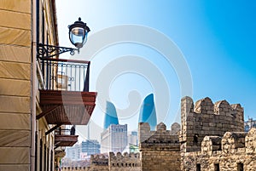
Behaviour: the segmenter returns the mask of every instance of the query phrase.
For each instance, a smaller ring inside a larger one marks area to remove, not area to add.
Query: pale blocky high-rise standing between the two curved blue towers
[[[111,124],[101,134],[102,153],[124,151],[127,144],[127,124]]]

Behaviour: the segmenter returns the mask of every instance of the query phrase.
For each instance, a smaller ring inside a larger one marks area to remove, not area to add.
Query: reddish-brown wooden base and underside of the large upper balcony
[[[95,92],[40,90],[40,105],[49,124],[86,125],[95,102]]]

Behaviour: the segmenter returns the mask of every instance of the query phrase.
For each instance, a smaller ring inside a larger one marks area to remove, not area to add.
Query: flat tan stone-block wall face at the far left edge
[[[0,1],[0,170],[31,170],[32,1]]]

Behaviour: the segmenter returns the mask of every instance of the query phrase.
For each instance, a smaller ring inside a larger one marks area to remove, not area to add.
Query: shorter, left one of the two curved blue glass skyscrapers
[[[111,124],[119,124],[119,118],[115,110],[115,106],[110,101],[107,101],[106,113],[104,119],[104,129],[107,129]]]

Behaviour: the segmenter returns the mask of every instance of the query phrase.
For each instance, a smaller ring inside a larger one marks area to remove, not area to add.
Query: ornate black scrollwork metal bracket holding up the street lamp
[[[70,54],[73,55],[76,50],[79,52],[79,49],[76,49],[76,48],[58,47],[58,46],[47,45],[43,43],[38,43],[37,48],[38,48],[37,49],[38,58],[50,58],[66,52],[70,52]]]

